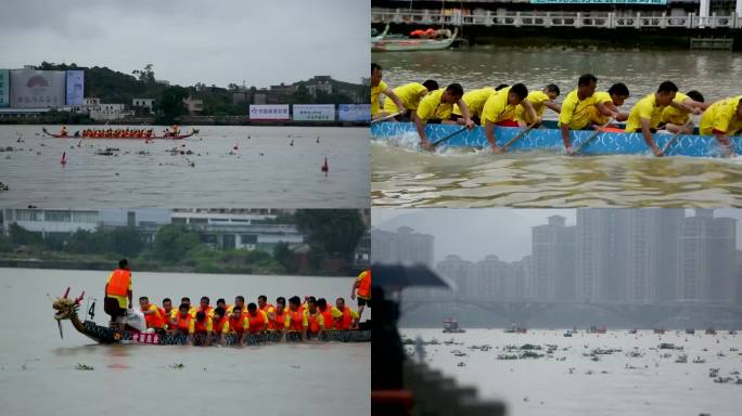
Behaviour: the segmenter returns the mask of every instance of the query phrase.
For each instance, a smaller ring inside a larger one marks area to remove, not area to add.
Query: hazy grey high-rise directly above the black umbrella
[[[374,263],[422,263],[433,266],[433,236],[400,226],[397,232],[371,230],[371,261]]]

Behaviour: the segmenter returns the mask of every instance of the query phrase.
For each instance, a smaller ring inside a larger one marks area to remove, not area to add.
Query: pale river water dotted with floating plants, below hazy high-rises
[[[502,329],[442,334],[440,329],[402,328],[400,333],[404,338],[420,336],[425,341],[452,339],[460,343],[425,346],[425,361],[460,385],[475,386],[481,396],[504,400],[511,415],[740,414],[742,385],[734,384],[738,376],[732,373],[742,372],[742,338],[726,332],[716,336],[668,332],[661,336],[651,330],[636,335],[609,330],[602,335],[580,333],[572,338],[564,337],[564,330],[546,329],[527,334],[504,334]],[[657,349],[662,342],[682,347],[683,351]],[[543,350],[536,351],[540,354],[546,352],[546,344],[558,347],[552,356],[497,359],[506,353],[503,347],[525,343],[540,346]],[[491,350],[470,349],[483,344],[489,344]],[[584,354],[593,349],[621,351],[592,361]],[[413,350],[408,347],[408,351]],[[456,356],[457,350],[466,355]],[[687,363],[675,362],[680,354],[688,355]],[[698,358],[705,363],[693,363]],[[717,377],[733,380],[714,382],[709,368],[719,369]]]

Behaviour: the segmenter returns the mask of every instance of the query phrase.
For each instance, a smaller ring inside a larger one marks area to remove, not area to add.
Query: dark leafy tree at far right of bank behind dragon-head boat
[[[348,259],[366,232],[360,212],[350,209],[299,209],[296,227],[307,235],[309,246]]]

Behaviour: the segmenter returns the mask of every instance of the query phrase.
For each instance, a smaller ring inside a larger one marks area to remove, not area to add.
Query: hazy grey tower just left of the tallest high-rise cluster
[[[533,290],[537,299],[574,299],[575,227],[561,216],[533,231]]]

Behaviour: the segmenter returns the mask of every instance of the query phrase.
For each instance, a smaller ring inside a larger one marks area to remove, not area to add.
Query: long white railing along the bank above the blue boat
[[[742,28],[742,17],[737,15],[698,14],[667,15],[667,13],[636,12],[512,12],[497,11],[404,10],[371,9],[372,23],[395,23],[413,25],[453,25],[453,26],[536,26],[536,27],[598,27],[598,28]]]

